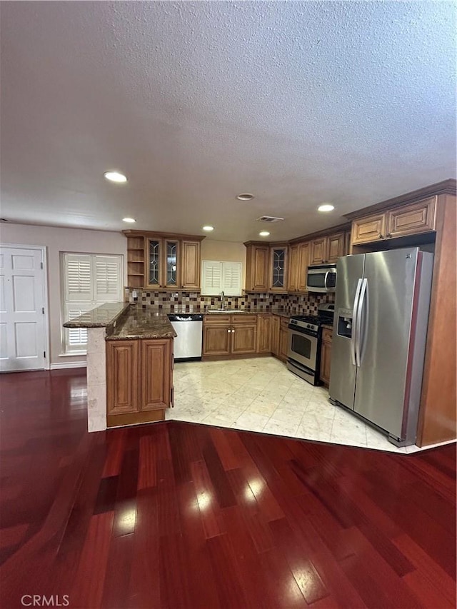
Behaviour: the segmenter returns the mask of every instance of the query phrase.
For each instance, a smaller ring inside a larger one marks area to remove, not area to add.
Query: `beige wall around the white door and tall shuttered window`
[[[28,224],[1,224],[1,243],[46,246],[48,271],[49,333],[51,367],[85,361],[84,356],[61,356],[61,251],[112,253],[124,256],[126,278],[127,240],[122,233],[88,231],[82,228],[55,228]],[[53,366],[54,365],[54,366]]]

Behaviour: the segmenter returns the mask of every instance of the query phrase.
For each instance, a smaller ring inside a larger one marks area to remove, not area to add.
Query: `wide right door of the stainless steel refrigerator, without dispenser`
[[[354,411],[401,438],[418,248],[367,253]]]

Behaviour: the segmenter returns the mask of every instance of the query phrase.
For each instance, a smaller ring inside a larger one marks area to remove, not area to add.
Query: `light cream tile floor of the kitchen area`
[[[382,433],[329,403],[326,388],[313,387],[275,358],[177,363],[174,389],[175,405],[166,411],[167,419],[394,453],[423,450],[393,446]]]

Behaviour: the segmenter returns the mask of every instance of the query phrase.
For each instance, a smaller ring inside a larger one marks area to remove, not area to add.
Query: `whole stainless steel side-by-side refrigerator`
[[[433,254],[419,248],[339,258],[328,391],[388,433],[416,441]]]

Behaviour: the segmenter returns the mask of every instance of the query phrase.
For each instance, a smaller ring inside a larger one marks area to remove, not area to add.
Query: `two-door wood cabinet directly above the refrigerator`
[[[432,196],[416,203],[356,218],[352,223],[351,242],[357,246],[434,231],[435,211],[436,196]]]

